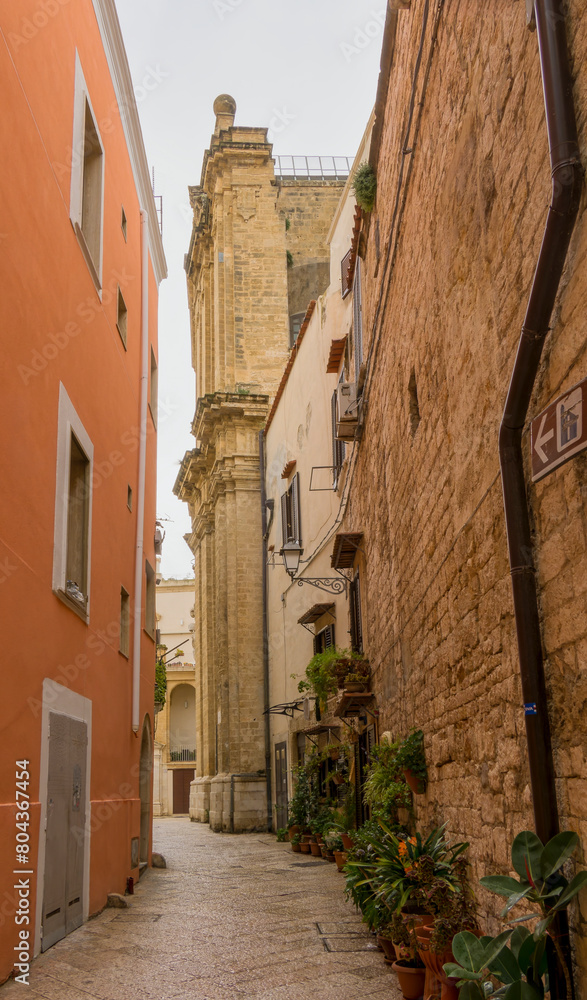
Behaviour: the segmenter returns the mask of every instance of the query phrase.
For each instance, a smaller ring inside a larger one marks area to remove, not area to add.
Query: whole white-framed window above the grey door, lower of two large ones
[[[94,447],[65,387],[59,387],[53,591],[89,620]]]

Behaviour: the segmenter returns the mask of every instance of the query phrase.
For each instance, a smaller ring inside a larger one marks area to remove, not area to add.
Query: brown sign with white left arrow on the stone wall
[[[587,448],[587,379],[559,396],[531,426],[532,482]]]

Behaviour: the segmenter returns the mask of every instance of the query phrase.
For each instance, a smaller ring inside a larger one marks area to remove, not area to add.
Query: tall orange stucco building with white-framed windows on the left
[[[0,28],[2,982],[149,861],[166,271],[112,0]]]

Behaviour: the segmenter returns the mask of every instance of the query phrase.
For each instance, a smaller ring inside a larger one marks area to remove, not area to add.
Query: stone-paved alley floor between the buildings
[[[167,869],[41,955],[0,1000],[401,1000],[335,865],[269,834],[155,820]]]

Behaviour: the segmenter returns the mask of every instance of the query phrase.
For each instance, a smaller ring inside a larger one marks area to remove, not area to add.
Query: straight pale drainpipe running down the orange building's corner
[[[147,394],[149,388],[149,216],[141,212],[141,387],[137,537],[135,549],[135,602],[132,663],[132,731],[138,733],[141,700],[141,618],[143,604],[143,535],[147,468]]]

